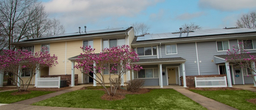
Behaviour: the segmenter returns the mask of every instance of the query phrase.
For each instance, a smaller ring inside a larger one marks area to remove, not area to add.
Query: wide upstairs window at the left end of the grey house
[[[157,54],[156,47],[134,48],[139,56],[154,56]]]

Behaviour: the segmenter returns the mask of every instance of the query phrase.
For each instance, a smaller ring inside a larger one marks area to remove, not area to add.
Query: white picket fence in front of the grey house
[[[224,77],[195,77],[196,87],[227,87],[227,78]]]

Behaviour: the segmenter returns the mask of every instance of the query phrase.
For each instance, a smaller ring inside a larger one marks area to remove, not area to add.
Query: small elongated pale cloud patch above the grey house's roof
[[[175,17],[175,19],[177,20],[191,20],[194,19],[195,17],[199,17],[205,15],[204,12],[196,12],[196,13],[183,13],[181,15],[178,15],[177,17]]]

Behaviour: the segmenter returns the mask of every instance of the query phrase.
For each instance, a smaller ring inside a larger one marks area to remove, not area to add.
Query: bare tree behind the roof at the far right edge
[[[249,14],[244,14],[236,22],[237,27],[256,29],[256,12],[251,12]]]

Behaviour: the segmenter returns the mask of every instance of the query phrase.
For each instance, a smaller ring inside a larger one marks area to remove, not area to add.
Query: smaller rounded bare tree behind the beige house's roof
[[[52,19],[49,22],[49,29],[46,31],[46,35],[56,35],[65,33],[64,26],[60,23],[60,20]]]

